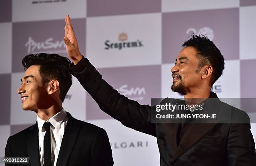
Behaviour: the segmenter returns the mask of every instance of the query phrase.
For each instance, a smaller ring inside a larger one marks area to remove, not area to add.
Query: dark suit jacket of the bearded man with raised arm
[[[151,106],[140,105],[119,94],[88,59],[73,64],[71,70],[101,110],[123,125],[157,138],[160,166],[256,166],[249,120],[248,123],[191,124],[179,140],[180,123],[151,123]],[[230,105],[220,100],[215,100],[213,106],[224,115],[229,111],[232,119],[240,115],[248,119],[245,112],[230,109]]]

